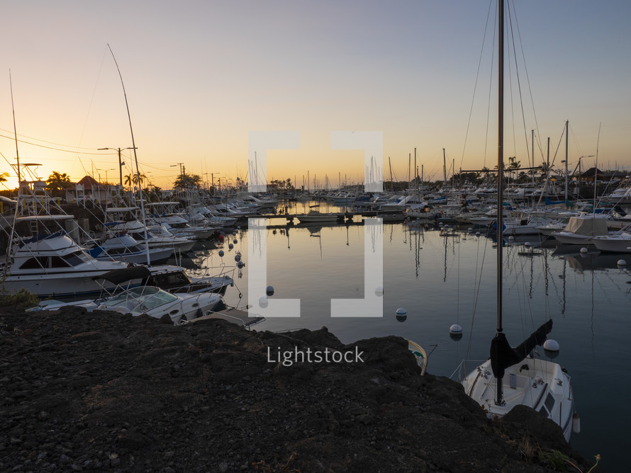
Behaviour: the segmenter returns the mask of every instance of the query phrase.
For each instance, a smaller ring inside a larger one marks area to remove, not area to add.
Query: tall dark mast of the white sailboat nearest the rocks
[[[497,333],[502,328],[502,229],[504,180],[504,0],[498,2],[498,186],[497,186]],[[496,404],[503,404],[502,379],[496,380]]]

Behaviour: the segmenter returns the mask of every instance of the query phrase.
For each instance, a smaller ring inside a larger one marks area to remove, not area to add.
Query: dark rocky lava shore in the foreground
[[[278,362],[279,351],[296,347],[363,352],[363,361]],[[113,312],[4,308],[0,404],[6,472],[592,466],[535,411],[489,421],[456,382],[421,377],[402,338],[345,346],[325,328],[274,334],[221,320],[172,326]]]

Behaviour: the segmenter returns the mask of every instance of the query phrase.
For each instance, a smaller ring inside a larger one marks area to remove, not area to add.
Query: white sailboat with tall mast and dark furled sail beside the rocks
[[[503,194],[503,42],[504,0],[498,2],[498,208]],[[502,227],[502,212],[497,215]],[[490,417],[501,417],[518,405],[530,406],[557,423],[569,441],[574,422],[574,394],[566,370],[532,353],[552,330],[552,319],[542,324],[517,348],[508,343],[502,326],[502,244],[497,245],[497,329],[491,341],[491,357],[467,375],[464,391],[477,401]],[[466,368],[465,368],[466,369]]]

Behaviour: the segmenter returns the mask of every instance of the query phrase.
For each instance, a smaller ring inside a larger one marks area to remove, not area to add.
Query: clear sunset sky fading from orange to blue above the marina
[[[509,3],[505,161],[529,164],[535,130],[535,164],[549,138],[562,166],[569,120],[570,171],[598,156],[600,169],[631,172],[631,2]],[[267,179],[309,188],[363,181],[364,153],[332,149],[333,132],[381,133],[385,181],[413,176],[415,149],[425,180],[442,179],[443,156],[448,175],[497,164],[496,0],[6,0],[2,10],[9,188],[13,108],[20,161],[40,164],[28,169],[42,179],[118,182],[118,155],[98,149],[132,147],[130,121],[140,172],[163,189],[180,165],[215,186],[247,180],[251,132],[298,132],[298,149],[267,151]],[[123,175],[135,172],[133,152],[123,161]]]

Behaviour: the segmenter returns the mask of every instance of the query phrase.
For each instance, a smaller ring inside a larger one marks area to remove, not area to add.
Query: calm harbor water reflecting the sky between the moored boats
[[[313,205],[313,203],[311,203]],[[320,206],[320,211],[338,211]],[[290,213],[308,211],[294,204]],[[343,211],[343,209],[341,209]],[[270,220],[269,225],[284,224]],[[228,239],[218,249],[201,253],[198,263],[234,266],[235,251],[245,268],[235,273],[236,288],[228,290],[230,304],[247,304],[248,233],[236,229],[232,251]],[[319,329],[327,326],[342,342],[397,335],[423,345],[428,371],[451,376],[464,358],[488,357],[496,327],[496,247],[486,236],[450,229],[384,224],[384,317],[330,317],[332,298],[364,295],[364,227],[296,225],[267,229],[267,285],[274,297],[300,298],[297,318],[272,318],[256,329]],[[631,313],[631,256],[588,253],[574,249],[542,248],[535,237],[506,243],[504,248],[504,331],[513,346],[521,343],[547,317],[554,320],[550,338],[561,351],[555,361],[572,376],[581,433],[572,446],[591,460],[603,457],[608,471],[628,464],[626,423],[631,420],[627,389],[631,386],[627,331]],[[620,258],[629,261],[618,268]],[[370,290],[373,290],[372,288]],[[242,295],[239,299],[238,295]],[[407,310],[399,321],[398,307]],[[464,336],[449,338],[449,326],[460,324]],[[540,349],[540,353],[542,350]],[[543,354],[543,353],[542,353]]]

